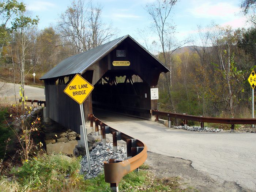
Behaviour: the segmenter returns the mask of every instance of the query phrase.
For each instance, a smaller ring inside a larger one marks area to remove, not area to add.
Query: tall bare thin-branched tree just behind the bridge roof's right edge
[[[167,51],[167,48],[171,47],[170,43],[172,41],[169,37],[172,37],[175,27],[168,22],[168,19],[170,18],[173,7],[176,3],[177,3],[177,0],[157,0],[156,3],[147,4],[146,6],[146,11],[153,19],[152,30],[158,35],[159,41],[161,42],[163,61],[166,66],[168,66],[169,63],[170,65],[172,65],[170,52]],[[170,68],[172,69],[171,66]],[[167,90],[169,94],[169,101],[171,103],[173,112],[175,112],[171,91],[170,91],[171,84],[166,74],[165,74],[165,78],[168,84]]]

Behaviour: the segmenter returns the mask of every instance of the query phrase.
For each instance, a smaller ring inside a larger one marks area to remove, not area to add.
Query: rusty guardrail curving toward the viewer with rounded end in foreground
[[[118,191],[118,183],[123,176],[138,169],[147,159],[147,146],[134,139],[129,135],[126,135],[116,129],[113,129],[94,117],[93,114],[88,115],[90,121],[90,127],[93,128],[93,122],[95,123],[96,135],[99,133],[99,126],[101,127],[102,144],[106,145],[106,134],[112,134],[113,137],[113,149],[117,151],[117,141],[123,140],[127,146],[127,159],[124,161],[119,159],[109,159],[109,162],[104,161],[104,174],[105,182],[110,183],[112,191]]]

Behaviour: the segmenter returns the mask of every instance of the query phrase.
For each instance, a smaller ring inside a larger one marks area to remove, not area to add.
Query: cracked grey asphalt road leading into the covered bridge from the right
[[[256,191],[256,134],[206,133],[168,129],[154,121],[95,113],[109,126],[144,142],[148,151],[192,161],[192,166],[220,182]]]

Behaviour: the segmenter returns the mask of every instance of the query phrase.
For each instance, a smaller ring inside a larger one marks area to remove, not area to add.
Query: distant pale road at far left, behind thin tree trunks
[[[44,89],[25,85],[24,90],[25,95],[28,97],[27,99],[45,101]],[[20,84],[15,84],[14,86],[13,83],[0,82],[0,102],[6,104],[13,104],[15,103],[15,95],[16,101],[19,102],[19,91]]]

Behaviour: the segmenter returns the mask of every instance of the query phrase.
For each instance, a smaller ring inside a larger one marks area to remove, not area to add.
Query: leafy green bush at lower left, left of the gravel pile
[[[61,188],[65,178],[75,178],[80,180],[78,176],[80,163],[77,158],[68,158],[65,155],[57,154],[47,156],[40,155],[26,161],[18,171],[12,170],[12,173],[18,178],[17,181],[22,186],[30,186],[33,190],[48,188]],[[83,177],[82,177],[83,178]],[[73,181],[71,182],[73,183]],[[55,191],[55,190],[53,190]]]

